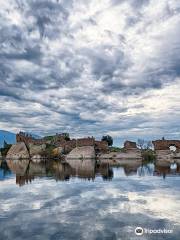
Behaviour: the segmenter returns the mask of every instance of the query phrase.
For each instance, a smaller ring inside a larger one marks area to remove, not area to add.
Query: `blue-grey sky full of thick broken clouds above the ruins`
[[[180,137],[179,0],[0,6],[0,129]]]

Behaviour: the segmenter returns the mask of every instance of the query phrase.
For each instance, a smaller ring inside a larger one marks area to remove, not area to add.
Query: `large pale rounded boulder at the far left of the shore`
[[[7,159],[28,159],[30,158],[29,151],[24,142],[13,144],[9,149]]]

